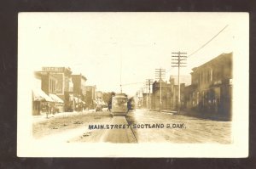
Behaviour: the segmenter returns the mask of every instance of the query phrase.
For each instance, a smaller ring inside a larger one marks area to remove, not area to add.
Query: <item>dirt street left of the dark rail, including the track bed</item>
[[[34,138],[49,143],[137,143],[127,126],[125,117],[113,117],[108,111],[74,112],[50,115],[49,119],[34,117],[32,131]]]

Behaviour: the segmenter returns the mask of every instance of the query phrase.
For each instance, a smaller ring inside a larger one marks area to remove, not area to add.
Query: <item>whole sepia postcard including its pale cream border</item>
[[[20,157],[247,157],[249,14],[21,12]]]

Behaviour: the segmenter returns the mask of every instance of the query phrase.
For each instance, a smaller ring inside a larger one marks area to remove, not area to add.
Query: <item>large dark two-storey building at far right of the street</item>
[[[188,110],[231,117],[232,57],[232,53],[220,54],[192,69],[191,85],[185,88]]]

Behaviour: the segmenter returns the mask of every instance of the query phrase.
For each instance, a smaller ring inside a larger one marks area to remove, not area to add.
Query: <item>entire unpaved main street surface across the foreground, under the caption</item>
[[[131,111],[126,119],[108,111],[63,113],[35,118],[32,132],[54,143],[231,143],[231,121],[148,110]]]

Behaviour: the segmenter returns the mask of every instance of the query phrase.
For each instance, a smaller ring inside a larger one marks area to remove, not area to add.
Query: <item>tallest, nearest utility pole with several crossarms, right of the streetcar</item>
[[[174,60],[175,62],[172,62],[172,67],[177,67],[177,83],[178,83],[178,103],[177,103],[177,113],[180,113],[180,83],[179,83],[179,69],[180,67],[186,67],[185,61],[187,60],[187,56],[186,55],[182,55],[182,54],[187,54],[187,53],[181,53],[181,52],[177,52],[177,53],[172,53],[175,55],[172,55],[172,60]]]

